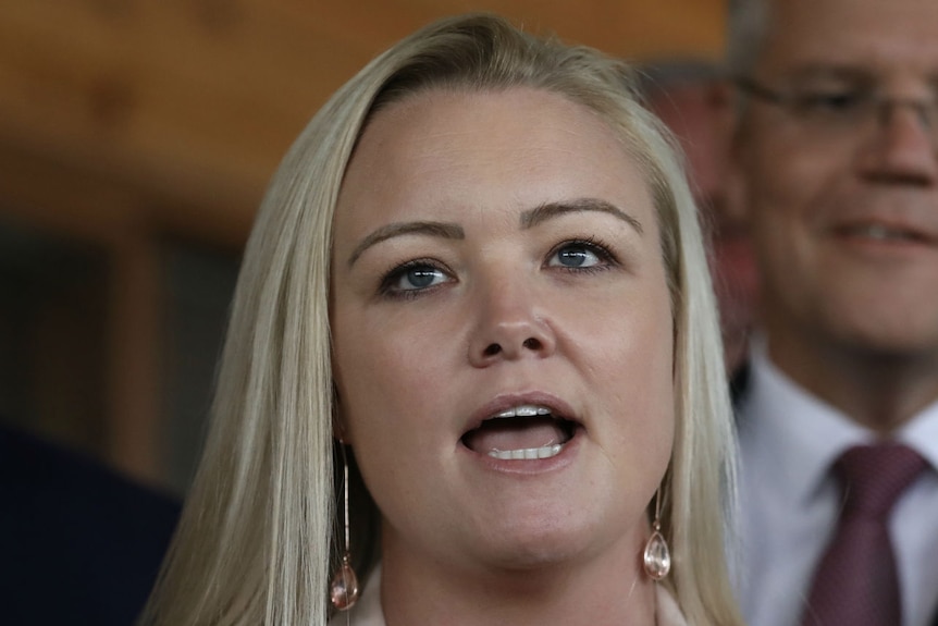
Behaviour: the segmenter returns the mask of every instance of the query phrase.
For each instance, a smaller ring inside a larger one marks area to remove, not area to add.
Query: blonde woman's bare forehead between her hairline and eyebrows
[[[620,133],[564,96],[528,87],[431,89],[388,105],[370,120],[342,196],[347,200],[380,187],[403,194],[432,184],[474,193],[479,185],[520,185],[538,176],[568,186],[575,176],[588,184],[634,186],[635,170]]]

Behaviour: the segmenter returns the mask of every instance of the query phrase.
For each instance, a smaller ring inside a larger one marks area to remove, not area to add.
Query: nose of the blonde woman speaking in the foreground
[[[469,346],[473,366],[543,358],[554,353],[556,336],[533,290],[503,282],[476,298],[478,317]]]

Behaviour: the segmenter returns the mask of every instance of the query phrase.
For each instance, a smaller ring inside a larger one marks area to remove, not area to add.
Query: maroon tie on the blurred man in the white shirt
[[[898,443],[859,445],[837,459],[840,519],[815,570],[802,626],[902,624],[889,512],[925,467],[915,451]]]

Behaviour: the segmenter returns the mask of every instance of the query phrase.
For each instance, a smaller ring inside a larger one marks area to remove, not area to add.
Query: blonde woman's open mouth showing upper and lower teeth
[[[485,419],[462,435],[472,452],[503,461],[533,461],[560,454],[578,428],[545,406],[520,405]]]

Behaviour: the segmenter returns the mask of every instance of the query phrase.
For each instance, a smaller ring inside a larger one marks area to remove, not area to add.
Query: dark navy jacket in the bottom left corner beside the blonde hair
[[[178,504],[0,427],[0,624],[133,624]]]

